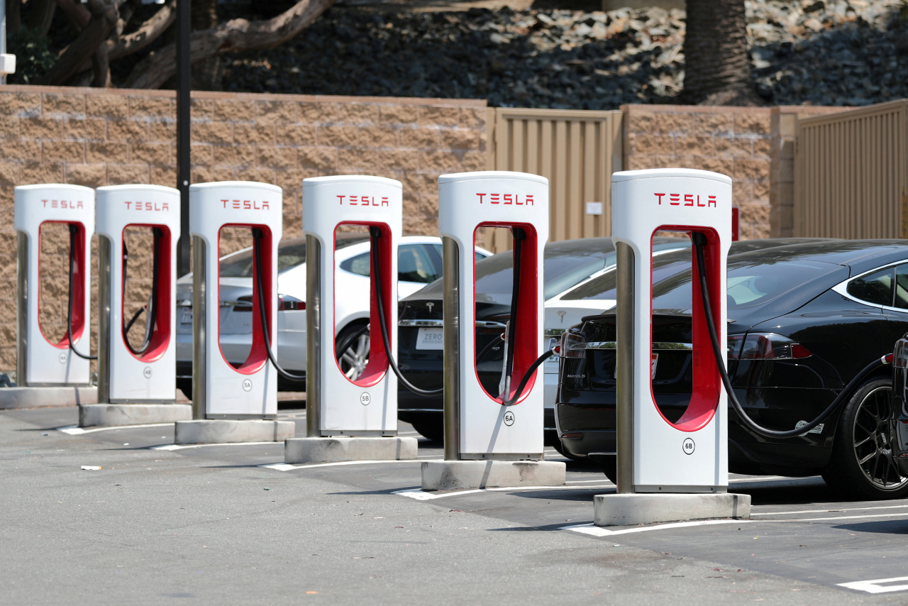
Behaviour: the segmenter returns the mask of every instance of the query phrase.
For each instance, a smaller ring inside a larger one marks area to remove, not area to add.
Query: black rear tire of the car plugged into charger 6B
[[[833,454],[823,470],[824,481],[834,490],[874,501],[908,493],[908,478],[895,467],[889,443],[892,397],[892,379],[873,377],[845,404]]]

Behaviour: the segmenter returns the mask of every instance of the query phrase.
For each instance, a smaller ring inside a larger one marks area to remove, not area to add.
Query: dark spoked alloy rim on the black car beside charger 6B
[[[892,399],[892,385],[881,385],[867,393],[854,415],[852,432],[858,466],[868,482],[883,490],[897,489],[908,482],[895,467],[889,443]]]

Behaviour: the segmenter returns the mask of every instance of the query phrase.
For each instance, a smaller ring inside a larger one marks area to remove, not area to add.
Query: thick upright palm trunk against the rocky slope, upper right
[[[681,102],[759,105],[747,54],[745,0],[687,0]]]

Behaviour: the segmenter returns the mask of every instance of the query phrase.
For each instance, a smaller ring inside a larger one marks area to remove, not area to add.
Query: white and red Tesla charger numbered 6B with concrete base
[[[654,169],[612,175],[618,488],[596,497],[598,525],[749,515],[749,497],[726,492],[727,402],[698,288],[691,293],[693,389],[686,412],[668,421],[652,392],[652,239],[656,232],[684,232],[705,247],[714,321],[725,343],[731,227],[732,181],[724,174]],[[698,284],[694,246],[691,263]]]

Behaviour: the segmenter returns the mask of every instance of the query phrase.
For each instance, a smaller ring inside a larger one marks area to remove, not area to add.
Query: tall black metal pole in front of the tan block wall
[[[180,190],[180,242],[177,246],[177,274],[192,271],[189,263],[189,182],[190,182],[190,0],[176,3],[176,187]]]

